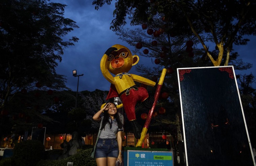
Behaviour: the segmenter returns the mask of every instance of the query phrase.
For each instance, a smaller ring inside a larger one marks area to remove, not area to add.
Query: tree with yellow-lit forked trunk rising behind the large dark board
[[[111,2],[94,0],[92,4],[98,10],[105,3],[109,5]],[[231,54],[233,45],[246,45],[249,39],[243,37],[256,35],[255,6],[256,2],[250,0],[118,0],[110,29],[119,30],[126,24],[127,15],[130,16],[131,25],[136,25],[138,20],[151,20],[153,12],[168,24],[174,25],[173,32],[190,29],[214,66],[228,65],[232,56],[236,56]],[[207,46],[208,41],[216,45],[216,57]]]

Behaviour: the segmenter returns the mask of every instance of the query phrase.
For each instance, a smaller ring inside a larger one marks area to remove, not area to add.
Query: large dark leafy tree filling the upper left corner
[[[78,41],[62,37],[78,26],[63,16],[65,6],[46,0],[1,1],[0,108],[21,90],[66,89],[55,67],[64,49]]]

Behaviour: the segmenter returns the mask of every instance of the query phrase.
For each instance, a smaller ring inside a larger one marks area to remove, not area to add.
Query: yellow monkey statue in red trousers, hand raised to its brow
[[[117,44],[107,49],[101,58],[100,69],[103,76],[111,83],[106,100],[120,97],[122,104],[118,108],[124,107],[127,118],[133,127],[134,136],[140,139],[142,127],[136,121],[135,105],[137,102],[142,102],[146,103],[148,108],[151,107],[147,103],[149,100],[148,91],[145,88],[136,87],[134,81],[149,86],[155,86],[156,82],[128,72],[138,61],[137,55],[132,56],[127,47]]]

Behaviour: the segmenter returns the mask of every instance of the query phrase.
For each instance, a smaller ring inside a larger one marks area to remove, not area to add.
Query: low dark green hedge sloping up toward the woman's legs
[[[73,166],[97,166],[95,159],[90,156],[91,151],[92,149],[83,150],[62,160],[41,160],[36,166],[63,166],[67,162],[73,162]]]

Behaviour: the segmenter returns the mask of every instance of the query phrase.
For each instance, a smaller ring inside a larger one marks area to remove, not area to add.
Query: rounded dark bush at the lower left
[[[44,158],[44,146],[40,141],[28,140],[15,145],[12,163],[14,166],[34,166]]]

